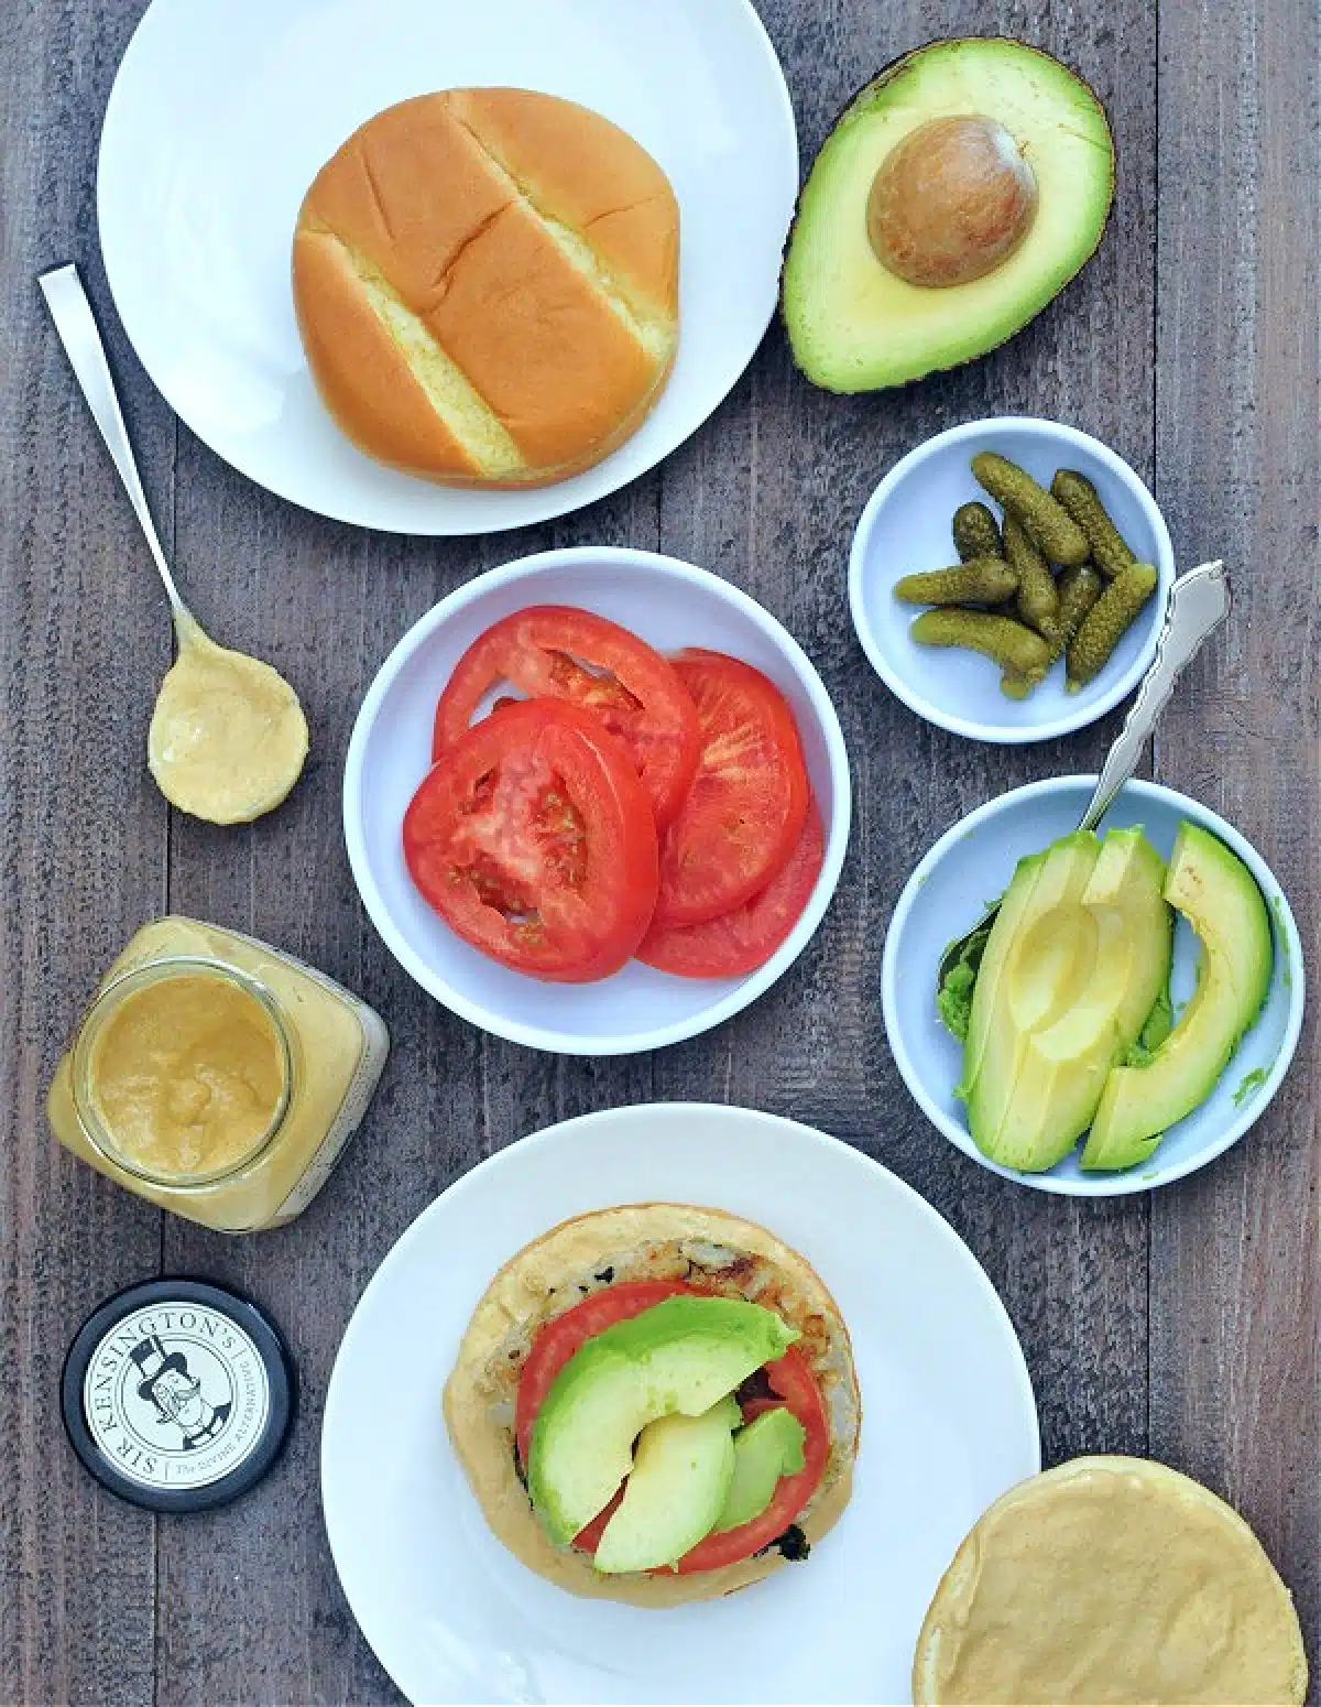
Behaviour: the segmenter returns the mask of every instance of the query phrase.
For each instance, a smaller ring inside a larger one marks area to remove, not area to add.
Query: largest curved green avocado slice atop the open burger
[[[604,1511],[647,1424],[710,1412],[797,1338],[759,1304],[683,1296],[584,1342],[551,1383],[527,1453],[527,1492],[550,1538],[565,1547]],[[708,1526],[717,1514],[719,1502]]]

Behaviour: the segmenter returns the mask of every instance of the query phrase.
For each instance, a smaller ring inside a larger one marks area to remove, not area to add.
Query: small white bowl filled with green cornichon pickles
[[[1046,741],[1120,703],[1155,655],[1174,548],[1121,456],[1062,422],[951,427],[858,519],[848,597],[872,667],[975,741]]]

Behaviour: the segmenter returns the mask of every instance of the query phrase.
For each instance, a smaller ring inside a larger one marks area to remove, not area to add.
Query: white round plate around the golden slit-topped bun
[[[505,84],[596,108],[649,149],[681,212],[679,358],[642,428],[575,480],[459,492],[343,437],[294,321],[290,242],[323,162],[381,108]],[[799,188],[783,73],[749,0],[154,0],[101,137],[116,307],[193,432],[309,510],[411,534],[563,516],[683,444],[775,311]]]

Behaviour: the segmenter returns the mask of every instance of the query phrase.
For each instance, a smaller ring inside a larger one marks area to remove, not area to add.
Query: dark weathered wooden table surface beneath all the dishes
[[[778,328],[730,399],[645,480],[519,534],[410,541],[321,521],[249,485],[181,427],[114,319],[96,236],[96,147],[143,0],[0,9],[0,1698],[89,1704],[386,1702],[326,1548],[321,1400],[394,1238],[445,1185],[585,1110],[698,1098],[811,1121],[915,1185],[1009,1306],[1050,1463],[1145,1453],[1232,1500],[1297,1596],[1321,1661],[1318,1031],[1242,1144],[1191,1180],[1109,1202],[1046,1197],[956,1152],[884,1041],[881,946],[899,888],[957,816],[1017,784],[1094,770],[1116,719],[988,748],[932,729],[869,669],[847,548],[889,464],[992,413],[1114,446],[1155,490],[1179,560],[1224,556],[1237,603],[1181,683],[1154,773],[1265,854],[1316,959],[1316,0],[759,0],[804,160],[848,94],[946,34],[1024,34],[1106,102],[1120,184],[1065,297],[1005,348],[903,393],[831,398]],[[143,766],[169,625],[137,524],[34,285],[84,265],[167,550],[201,620],[270,657],[314,731],[290,802],[246,830],[171,814]],[[777,988],[695,1043],[558,1060],[483,1036],[375,939],[340,835],[353,710],[398,635],[480,568],[628,543],[703,563],[806,645],[843,719],[857,818],[843,883]],[[167,908],[306,956],[387,1017],[394,1057],[360,1137],[292,1227],[229,1239],[162,1215],[65,1156],[43,1096],[94,980]],[[195,1272],[285,1326],[304,1403],[259,1494],[157,1521],[68,1451],[58,1372],[106,1294]]]

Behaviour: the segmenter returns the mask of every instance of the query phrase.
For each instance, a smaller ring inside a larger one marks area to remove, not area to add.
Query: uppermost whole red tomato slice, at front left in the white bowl
[[[469,729],[413,795],[403,847],[457,935],[536,978],[609,976],[655,908],[642,782],[625,748],[562,702],[519,702]]]

